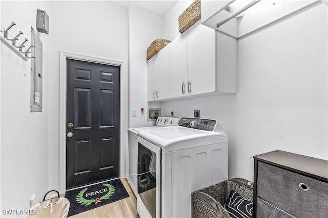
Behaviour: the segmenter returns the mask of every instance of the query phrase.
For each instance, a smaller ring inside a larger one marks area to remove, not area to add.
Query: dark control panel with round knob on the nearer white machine
[[[188,127],[197,130],[213,131],[216,125],[214,119],[202,119],[202,118],[191,118],[182,117],[179,120],[178,126]]]

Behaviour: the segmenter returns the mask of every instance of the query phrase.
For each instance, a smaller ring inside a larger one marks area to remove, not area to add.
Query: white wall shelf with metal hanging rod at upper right
[[[201,23],[236,39],[322,1],[201,1]],[[229,7],[229,12],[224,10]]]

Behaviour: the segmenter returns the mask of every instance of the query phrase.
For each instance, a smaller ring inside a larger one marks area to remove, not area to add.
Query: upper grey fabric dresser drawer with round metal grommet
[[[257,173],[259,198],[298,217],[328,217],[328,183],[261,161]]]

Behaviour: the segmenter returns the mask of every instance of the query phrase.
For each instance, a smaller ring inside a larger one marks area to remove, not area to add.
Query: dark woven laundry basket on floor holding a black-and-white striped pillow
[[[192,193],[194,217],[231,218],[223,208],[231,190],[238,192],[241,196],[253,202],[253,182],[242,178],[226,180]]]

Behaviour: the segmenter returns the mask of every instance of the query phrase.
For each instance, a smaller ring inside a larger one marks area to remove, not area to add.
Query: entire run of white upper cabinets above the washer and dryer
[[[148,101],[236,93],[236,74],[237,40],[199,20],[148,61]]]

